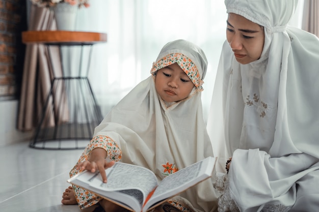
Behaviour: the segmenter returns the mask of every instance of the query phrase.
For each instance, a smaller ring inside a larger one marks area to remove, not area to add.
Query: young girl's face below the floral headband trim
[[[155,75],[156,92],[166,102],[177,102],[187,98],[194,86],[176,63],[159,69]]]

